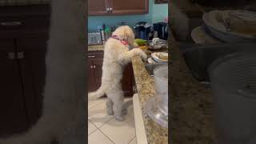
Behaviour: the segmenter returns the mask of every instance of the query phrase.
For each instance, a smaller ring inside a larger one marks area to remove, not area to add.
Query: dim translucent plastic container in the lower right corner
[[[246,143],[255,136],[255,53],[229,54],[209,68],[218,144]]]

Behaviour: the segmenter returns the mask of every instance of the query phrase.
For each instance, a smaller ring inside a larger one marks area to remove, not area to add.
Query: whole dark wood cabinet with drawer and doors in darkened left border
[[[0,137],[28,130],[42,112],[50,6],[0,7]]]

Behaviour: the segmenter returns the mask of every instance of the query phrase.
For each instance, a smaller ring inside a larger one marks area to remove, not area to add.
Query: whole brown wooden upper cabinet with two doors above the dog
[[[89,15],[147,14],[149,0],[89,0]]]

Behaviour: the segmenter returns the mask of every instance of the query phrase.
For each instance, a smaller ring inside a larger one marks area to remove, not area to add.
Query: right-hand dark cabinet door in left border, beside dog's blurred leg
[[[17,40],[19,64],[26,98],[30,126],[42,113],[46,79],[46,42],[48,38],[21,38]]]

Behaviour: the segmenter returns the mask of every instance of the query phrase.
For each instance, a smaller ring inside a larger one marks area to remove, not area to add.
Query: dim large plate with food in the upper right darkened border
[[[256,40],[256,13],[244,10],[212,10],[202,16],[207,34],[222,42]]]

